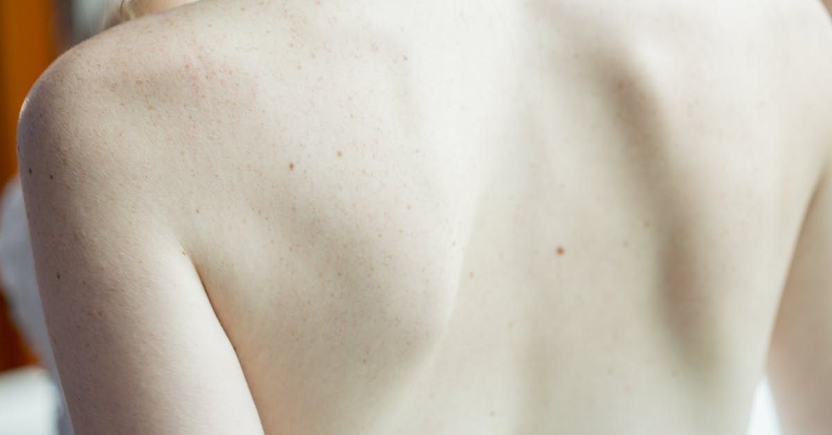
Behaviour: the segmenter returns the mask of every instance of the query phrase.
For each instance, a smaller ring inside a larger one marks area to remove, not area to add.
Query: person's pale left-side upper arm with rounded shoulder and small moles
[[[53,66],[18,129],[37,282],[76,432],[262,433],[234,348],[159,205],[164,191],[150,187],[145,141],[158,136],[126,128],[131,96],[98,86],[94,61]],[[107,73],[134,73],[117,69]]]

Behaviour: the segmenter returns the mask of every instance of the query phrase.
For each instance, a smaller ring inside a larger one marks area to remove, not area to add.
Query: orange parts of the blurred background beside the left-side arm
[[[23,98],[57,56],[59,26],[52,0],[0,0],[0,187],[17,172],[17,114]],[[0,293],[0,371],[37,363],[9,318]]]

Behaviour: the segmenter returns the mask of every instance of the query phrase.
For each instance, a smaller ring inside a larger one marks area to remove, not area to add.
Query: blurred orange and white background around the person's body
[[[42,322],[22,196],[15,128],[23,98],[62,52],[98,32],[120,0],[0,0],[0,434],[67,435],[72,428]],[[765,379],[747,435],[779,435]]]

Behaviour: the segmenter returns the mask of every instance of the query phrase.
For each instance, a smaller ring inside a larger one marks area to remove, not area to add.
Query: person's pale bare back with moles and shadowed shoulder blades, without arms
[[[820,4],[296,3],[91,42],[158,39],[107,83],[134,212],[265,433],[741,433],[829,156]]]

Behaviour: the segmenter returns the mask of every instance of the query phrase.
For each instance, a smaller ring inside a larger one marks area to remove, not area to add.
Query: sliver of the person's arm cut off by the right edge
[[[769,378],[786,435],[832,433],[830,167],[806,215],[771,341]]]

